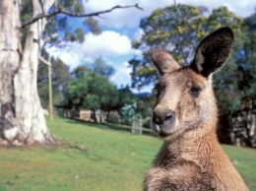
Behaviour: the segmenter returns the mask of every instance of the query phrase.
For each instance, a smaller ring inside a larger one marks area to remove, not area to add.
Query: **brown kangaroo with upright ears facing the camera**
[[[152,128],[163,145],[146,174],[144,191],[249,190],[216,133],[218,108],[212,76],[224,66],[232,43],[229,28],[209,34],[185,67],[164,50],[152,51],[160,73]]]

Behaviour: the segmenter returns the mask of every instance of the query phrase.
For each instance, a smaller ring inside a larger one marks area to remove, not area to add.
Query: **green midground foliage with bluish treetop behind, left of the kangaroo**
[[[134,98],[128,86],[118,90],[110,83],[109,77],[113,71],[100,57],[96,58],[91,68],[78,66],[72,72],[72,80],[67,85],[62,104],[73,110],[87,108],[120,111],[125,104],[132,103]]]

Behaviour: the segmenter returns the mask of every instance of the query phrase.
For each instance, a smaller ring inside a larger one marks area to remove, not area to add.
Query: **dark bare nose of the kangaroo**
[[[167,109],[160,111],[159,109],[155,109],[153,111],[153,122],[160,125],[165,122],[173,122],[175,120],[175,112]]]

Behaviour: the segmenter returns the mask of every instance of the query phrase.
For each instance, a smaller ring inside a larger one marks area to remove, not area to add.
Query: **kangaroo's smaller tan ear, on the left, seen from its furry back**
[[[160,75],[163,75],[166,72],[172,72],[180,68],[172,56],[164,50],[153,50],[151,52],[151,59],[155,66],[158,68]]]

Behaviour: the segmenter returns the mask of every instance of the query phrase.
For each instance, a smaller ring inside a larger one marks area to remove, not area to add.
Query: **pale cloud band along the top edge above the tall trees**
[[[120,29],[124,27],[136,28],[140,24],[140,20],[144,17],[150,16],[150,14],[157,8],[163,8],[173,1],[159,0],[159,1],[149,1],[149,0],[92,0],[85,2],[85,9],[87,13],[106,10],[112,8],[115,5],[132,5],[138,3],[143,11],[136,8],[128,9],[116,9],[111,13],[101,15],[104,19],[97,19],[100,25]],[[233,11],[236,15],[241,17],[247,17],[253,13],[255,9],[255,0],[215,0],[215,1],[190,1],[190,0],[176,0],[176,3],[190,4],[193,6],[205,6],[210,11],[212,9],[218,8],[220,6],[226,5],[230,11]]]

